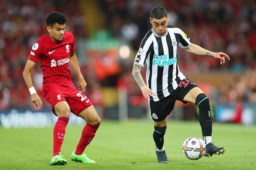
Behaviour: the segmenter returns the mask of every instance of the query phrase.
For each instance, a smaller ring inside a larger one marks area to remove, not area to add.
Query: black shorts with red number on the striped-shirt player
[[[179,82],[179,85],[169,96],[159,101],[150,100],[150,113],[153,121],[163,121],[172,112],[176,100],[187,103],[183,101],[184,97],[192,88],[197,87],[197,85],[189,79],[182,80]]]

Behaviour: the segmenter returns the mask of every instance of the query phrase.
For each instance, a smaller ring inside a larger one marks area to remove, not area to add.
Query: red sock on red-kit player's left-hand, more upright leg
[[[67,117],[59,117],[53,129],[53,156],[59,155],[65,136],[65,129],[69,122]]]

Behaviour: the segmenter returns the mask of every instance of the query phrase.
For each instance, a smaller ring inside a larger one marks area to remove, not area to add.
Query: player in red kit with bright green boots
[[[51,12],[47,16],[49,33],[38,39],[32,46],[23,77],[30,91],[32,102],[40,109],[43,103],[33,87],[31,78],[31,70],[37,61],[40,62],[44,79],[44,97],[51,104],[53,113],[58,116],[53,129],[53,158],[49,164],[65,165],[67,163],[66,159],[62,158],[60,150],[71,112],[87,122],[82,130],[81,139],[71,154],[71,160],[95,163],[83,152],[94,138],[101,120],[91,101],[84,95],[87,83],[81,74],[75,55],[75,37],[72,33],[65,32],[66,21],[65,15],[60,12]],[[73,85],[69,63],[78,76],[81,91]]]

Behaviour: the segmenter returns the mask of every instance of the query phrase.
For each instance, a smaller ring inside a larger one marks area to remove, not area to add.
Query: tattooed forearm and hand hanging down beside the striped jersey
[[[135,82],[140,86],[140,90],[142,91],[142,94],[144,95],[144,97],[148,98],[150,96],[153,96],[154,93],[145,84],[145,82],[141,76],[141,73],[140,73],[141,68],[142,67],[134,64],[133,68],[132,68],[132,76],[134,77]]]

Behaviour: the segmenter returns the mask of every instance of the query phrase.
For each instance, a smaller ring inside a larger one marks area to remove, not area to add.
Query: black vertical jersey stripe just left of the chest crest
[[[169,59],[170,58],[174,58],[175,56],[173,56],[172,39],[171,39],[171,36],[170,36],[169,33],[166,35],[166,41],[168,42],[167,46],[168,46],[168,49],[169,49]],[[173,91],[173,87],[172,87],[172,72],[173,72],[173,64],[169,65],[169,71],[168,71],[168,91],[169,91],[169,93],[171,93],[171,91]]]

